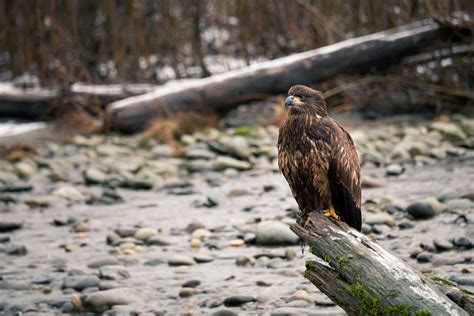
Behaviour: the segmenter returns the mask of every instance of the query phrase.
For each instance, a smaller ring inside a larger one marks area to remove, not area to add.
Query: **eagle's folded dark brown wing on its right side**
[[[328,117],[323,124],[332,131],[332,158],[327,174],[332,204],[344,222],[360,231],[360,164],[354,142],[335,120]]]

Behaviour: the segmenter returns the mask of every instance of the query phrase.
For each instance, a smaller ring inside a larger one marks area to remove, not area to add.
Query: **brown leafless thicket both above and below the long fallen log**
[[[391,67],[338,73],[318,88],[342,85],[329,104],[363,108],[369,115],[472,104],[472,37],[466,36],[472,30],[471,1],[3,0],[0,6],[0,80],[63,91],[77,82],[160,85],[208,77],[434,19],[457,30],[421,50],[426,54],[413,52]],[[360,81],[358,73],[366,79]],[[104,108],[91,95],[68,95],[55,108],[69,109],[71,102],[94,117]]]

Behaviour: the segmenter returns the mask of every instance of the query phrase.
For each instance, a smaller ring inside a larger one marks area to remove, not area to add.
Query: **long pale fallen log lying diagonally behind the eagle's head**
[[[426,49],[445,30],[431,20],[424,20],[220,75],[164,86],[111,103],[106,125],[135,132],[157,115],[200,108],[220,112],[245,101],[286,92],[294,84],[311,84],[347,71],[368,72],[374,65],[390,64]]]

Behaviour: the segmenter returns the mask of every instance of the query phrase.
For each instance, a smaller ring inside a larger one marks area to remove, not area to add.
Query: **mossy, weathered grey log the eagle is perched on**
[[[291,227],[320,258],[306,262],[304,276],[349,315],[468,315],[365,235],[320,212],[310,220]]]

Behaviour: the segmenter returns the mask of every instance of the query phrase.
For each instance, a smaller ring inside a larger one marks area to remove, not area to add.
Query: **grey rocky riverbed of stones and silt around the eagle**
[[[474,120],[358,124],[365,234],[474,290]],[[302,276],[278,128],[76,136],[0,160],[0,314],[344,311]]]

